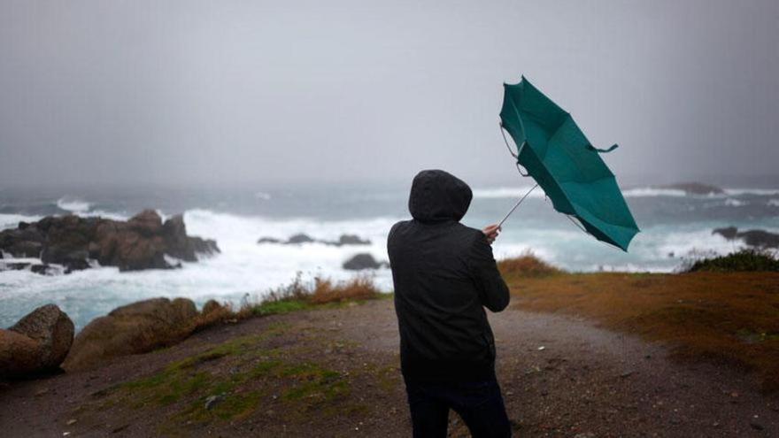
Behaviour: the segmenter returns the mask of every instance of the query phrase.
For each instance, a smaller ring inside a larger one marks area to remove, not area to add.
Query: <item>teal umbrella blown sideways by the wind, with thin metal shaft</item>
[[[500,120],[500,126],[516,144],[516,153],[510,146],[509,150],[517,159],[520,173],[536,180],[554,209],[578,220],[599,241],[627,251],[630,240],[639,231],[636,220],[614,174],[598,155],[616,149],[617,145],[607,150],[593,147],[571,114],[524,76],[516,85],[504,84]],[[525,173],[521,167],[526,169]]]

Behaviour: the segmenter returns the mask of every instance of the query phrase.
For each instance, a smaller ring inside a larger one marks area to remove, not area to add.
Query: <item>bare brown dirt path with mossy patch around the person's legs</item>
[[[490,321],[516,436],[779,436],[779,399],[760,396],[743,373],[675,364],[663,348],[589,321],[517,310]],[[409,436],[397,342],[389,300],[250,319],[92,372],[4,388],[0,431]],[[135,383],[118,385],[127,381]],[[454,415],[451,432],[467,436]]]

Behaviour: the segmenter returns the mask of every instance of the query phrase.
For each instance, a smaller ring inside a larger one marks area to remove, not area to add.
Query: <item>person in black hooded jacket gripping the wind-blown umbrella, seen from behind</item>
[[[445,437],[450,409],[476,438],[511,436],[484,311],[509,301],[490,247],[499,230],[459,223],[472,197],[450,173],[418,173],[408,200],[413,219],[395,224],[387,242],[415,437]]]

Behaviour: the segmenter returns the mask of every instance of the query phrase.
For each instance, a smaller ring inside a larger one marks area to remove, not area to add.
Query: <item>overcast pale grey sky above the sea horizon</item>
[[[779,173],[775,0],[0,0],[0,184],[514,181],[521,74],[618,177]]]

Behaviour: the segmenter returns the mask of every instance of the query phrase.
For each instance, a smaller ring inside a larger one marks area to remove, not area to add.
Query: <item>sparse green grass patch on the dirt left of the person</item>
[[[170,419],[178,424],[243,419],[257,411],[263,399],[271,399],[272,391],[281,403],[289,405],[285,411],[297,413],[348,396],[348,376],[290,357],[299,353],[297,346],[263,348],[264,341],[287,328],[273,324],[261,334],[222,342],[171,362],[157,373],[121,383],[110,392],[135,409],[176,406]],[[209,396],[220,399],[206,409]],[[111,398],[106,402],[114,404],[116,398]],[[336,414],[338,409],[330,411]]]

